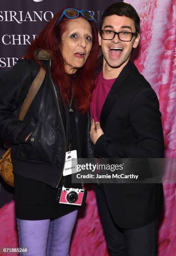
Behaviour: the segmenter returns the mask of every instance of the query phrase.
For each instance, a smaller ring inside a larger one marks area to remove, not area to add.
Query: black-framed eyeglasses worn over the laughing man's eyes
[[[127,31],[121,31],[121,32],[115,32],[112,30],[100,30],[101,38],[104,40],[112,40],[115,35],[118,35],[120,41],[124,42],[130,42],[133,36],[137,36],[138,32],[127,32]]]

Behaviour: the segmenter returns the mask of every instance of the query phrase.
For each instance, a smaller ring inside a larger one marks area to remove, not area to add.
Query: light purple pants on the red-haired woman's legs
[[[19,244],[27,256],[68,256],[77,210],[55,220],[17,219]]]

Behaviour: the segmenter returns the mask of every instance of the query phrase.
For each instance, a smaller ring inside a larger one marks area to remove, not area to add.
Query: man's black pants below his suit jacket
[[[97,205],[111,256],[156,256],[157,220],[141,228],[122,229],[114,222],[104,189],[96,185]]]

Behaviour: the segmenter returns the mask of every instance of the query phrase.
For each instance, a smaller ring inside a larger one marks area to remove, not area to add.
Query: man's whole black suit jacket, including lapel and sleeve
[[[100,115],[104,135],[97,157],[162,158],[164,138],[156,93],[129,61],[112,85]],[[153,221],[163,207],[162,184],[103,184],[109,210],[122,228]]]

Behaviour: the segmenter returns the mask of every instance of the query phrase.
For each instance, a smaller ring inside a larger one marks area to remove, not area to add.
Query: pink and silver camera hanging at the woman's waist
[[[60,187],[57,192],[56,201],[59,204],[83,206],[87,197],[84,189]]]

